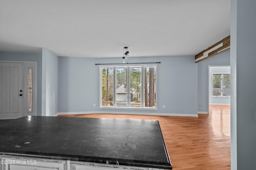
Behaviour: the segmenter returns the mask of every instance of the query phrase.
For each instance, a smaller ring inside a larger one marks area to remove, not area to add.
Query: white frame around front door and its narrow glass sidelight
[[[3,61],[0,60],[0,63],[23,63],[23,96],[25,93],[28,93],[28,82],[26,76],[26,70],[32,68],[32,84],[33,84],[33,93],[32,93],[32,111],[27,110],[27,98],[23,98],[23,116],[27,115],[37,115],[37,61]]]

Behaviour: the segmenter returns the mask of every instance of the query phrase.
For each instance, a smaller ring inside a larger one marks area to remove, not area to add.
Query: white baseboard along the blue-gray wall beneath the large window
[[[142,113],[142,112],[113,112],[113,111],[82,111],[82,112],[59,112],[57,115],[78,115],[78,114],[93,114],[93,113],[106,113],[106,114],[125,114],[125,115],[161,115],[161,116],[189,116],[198,117],[197,114],[181,114],[181,113]]]

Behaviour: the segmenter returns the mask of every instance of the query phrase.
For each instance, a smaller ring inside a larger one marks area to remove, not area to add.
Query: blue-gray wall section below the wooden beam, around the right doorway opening
[[[230,65],[230,50],[198,63],[198,104],[200,112],[208,112],[208,65]],[[200,107],[200,104],[202,107]]]

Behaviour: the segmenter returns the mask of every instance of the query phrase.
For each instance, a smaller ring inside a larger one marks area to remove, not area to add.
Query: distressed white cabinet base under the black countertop
[[[160,170],[136,166],[0,155],[0,170]]]

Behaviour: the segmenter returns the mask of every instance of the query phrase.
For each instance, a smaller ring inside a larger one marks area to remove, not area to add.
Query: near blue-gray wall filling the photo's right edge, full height
[[[231,168],[256,167],[256,1],[231,0]]]

